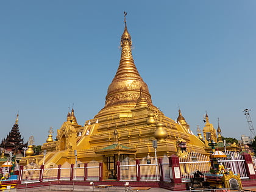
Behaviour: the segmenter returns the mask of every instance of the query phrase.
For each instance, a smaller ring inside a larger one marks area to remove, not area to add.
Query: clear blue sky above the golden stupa
[[[124,30],[152,102],[191,130],[207,110],[224,137],[256,126],[256,1],[0,1],[1,138],[19,111],[24,140],[43,144],[49,127],[79,124],[102,107]]]

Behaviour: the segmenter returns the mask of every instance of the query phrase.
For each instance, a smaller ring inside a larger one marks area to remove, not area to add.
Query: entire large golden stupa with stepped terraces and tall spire
[[[157,157],[176,154],[177,143],[187,144],[187,152],[205,154],[204,141],[194,135],[179,109],[177,121],[168,118],[152,104],[148,85],[143,81],[132,57],[132,38],[126,18],[121,36],[121,59],[112,83],[108,86],[105,106],[93,119],[77,124],[74,109],[57,130],[57,141],[44,143],[47,151],[45,166],[74,163],[103,162],[104,179],[114,163],[126,157],[154,156],[152,141],[158,141]],[[43,164],[42,155],[25,157],[21,164]],[[25,161],[26,159],[26,161]],[[110,162],[111,160],[111,162]],[[114,166],[115,167],[115,166]]]

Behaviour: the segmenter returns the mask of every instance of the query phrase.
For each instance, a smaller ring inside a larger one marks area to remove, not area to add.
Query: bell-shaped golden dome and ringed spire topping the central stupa
[[[132,38],[126,24],[121,37],[121,47],[121,59],[116,75],[108,86],[105,107],[94,118],[119,112],[129,112],[136,106],[141,89],[143,90],[143,98],[149,105],[152,105],[148,85],[141,78],[133,61]]]

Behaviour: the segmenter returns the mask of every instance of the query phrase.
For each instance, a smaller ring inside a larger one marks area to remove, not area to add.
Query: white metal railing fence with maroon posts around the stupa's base
[[[226,151],[227,158],[217,158],[225,168],[230,168],[234,174],[240,174],[241,179],[248,179],[243,156],[239,152]],[[155,157],[147,156],[140,160],[129,157],[116,164],[118,180],[121,181],[159,181],[171,182],[169,158],[166,155],[157,163]],[[255,159],[253,159],[255,162]],[[35,163],[24,166],[20,171],[21,183],[42,182],[52,180],[102,180],[102,163],[91,161],[76,165],[52,165],[49,168]],[[84,166],[80,166],[84,165]],[[190,182],[198,170],[203,174],[211,169],[210,158],[207,155],[189,152],[179,157],[182,182]],[[161,176],[160,176],[160,170]]]

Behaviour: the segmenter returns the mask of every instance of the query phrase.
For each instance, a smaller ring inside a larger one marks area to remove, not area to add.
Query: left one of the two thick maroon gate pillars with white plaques
[[[180,174],[180,162],[179,157],[172,154],[169,157],[169,173],[171,178],[171,190],[172,191],[182,191],[186,189],[185,183],[182,183],[182,178]]]

